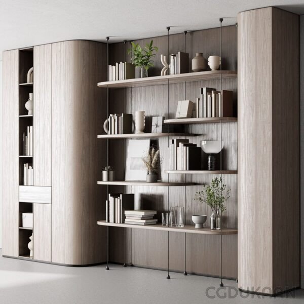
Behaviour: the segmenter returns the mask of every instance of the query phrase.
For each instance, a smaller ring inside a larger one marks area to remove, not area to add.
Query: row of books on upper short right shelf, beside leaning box
[[[233,92],[201,88],[195,107],[197,118],[233,117]]]

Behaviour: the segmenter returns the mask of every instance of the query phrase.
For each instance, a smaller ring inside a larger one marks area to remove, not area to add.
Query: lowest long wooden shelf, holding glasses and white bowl
[[[188,226],[184,226],[184,227],[170,227],[170,226],[163,226],[162,224],[144,226],[144,225],[135,225],[135,224],[107,223],[107,222],[105,222],[105,220],[99,220],[99,221],[97,221],[97,224],[101,225],[101,226],[138,228],[138,229],[195,233],[195,234],[208,234],[208,235],[235,235],[235,234],[238,234],[237,229],[227,229],[227,228],[224,228],[222,230],[210,230],[210,228],[198,229],[198,228],[195,228],[194,225],[188,225]]]

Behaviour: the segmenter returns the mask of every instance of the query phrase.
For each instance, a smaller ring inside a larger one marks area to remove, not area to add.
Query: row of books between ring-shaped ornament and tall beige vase
[[[131,134],[132,128],[132,114],[110,114],[108,119],[108,134]]]

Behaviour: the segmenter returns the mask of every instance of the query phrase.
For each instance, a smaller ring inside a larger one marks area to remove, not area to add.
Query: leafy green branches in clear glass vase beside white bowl
[[[230,198],[230,193],[231,189],[222,183],[221,177],[213,178],[210,185],[204,185],[202,191],[196,192],[194,200],[200,203],[206,203],[211,207],[211,230],[221,229],[219,211],[223,212],[226,210],[224,203]]]

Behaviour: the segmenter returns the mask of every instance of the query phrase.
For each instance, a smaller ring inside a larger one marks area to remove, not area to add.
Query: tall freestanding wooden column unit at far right
[[[238,74],[238,286],[278,293],[299,286],[299,17],[240,13]]]

